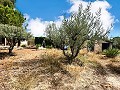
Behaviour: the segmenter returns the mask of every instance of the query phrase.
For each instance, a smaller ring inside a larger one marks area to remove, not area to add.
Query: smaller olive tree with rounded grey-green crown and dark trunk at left
[[[7,39],[10,46],[9,54],[12,54],[12,50],[20,38],[26,38],[26,33],[22,27],[0,24],[0,36]]]

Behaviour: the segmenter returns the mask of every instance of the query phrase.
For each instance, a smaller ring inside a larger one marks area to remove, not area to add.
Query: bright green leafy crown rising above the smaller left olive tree
[[[16,0],[0,0],[0,23],[21,27],[25,19],[23,15],[15,9]]]

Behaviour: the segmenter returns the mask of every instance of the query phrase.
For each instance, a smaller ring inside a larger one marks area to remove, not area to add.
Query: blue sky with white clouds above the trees
[[[18,9],[26,18],[27,29],[35,36],[44,36],[49,23],[60,26],[63,16],[78,11],[79,4],[85,8],[91,2],[91,12],[101,8],[101,22],[105,30],[113,28],[109,37],[120,36],[120,0],[17,0]]]

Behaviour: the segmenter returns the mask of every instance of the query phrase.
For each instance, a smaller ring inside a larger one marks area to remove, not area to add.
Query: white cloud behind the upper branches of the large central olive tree
[[[72,4],[72,7],[69,9],[68,12],[77,12],[78,7],[80,4],[82,4],[83,8],[85,8],[89,2],[83,1],[83,0],[69,0],[69,2]],[[111,27],[111,24],[114,23],[114,16],[111,15],[110,12],[108,12],[108,9],[111,8],[110,4],[103,0],[99,1],[96,0],[94,2],[91,2],[91,12],[95,13],[101,8],[101,22],[103,24],[103,27],[105,30]]]

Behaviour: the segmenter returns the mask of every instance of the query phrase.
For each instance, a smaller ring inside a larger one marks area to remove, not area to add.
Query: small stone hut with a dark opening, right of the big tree
[[[95,41],[94,52],[100,53],[105,49],[112,48],[112,42],[110,41]]]

